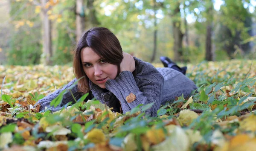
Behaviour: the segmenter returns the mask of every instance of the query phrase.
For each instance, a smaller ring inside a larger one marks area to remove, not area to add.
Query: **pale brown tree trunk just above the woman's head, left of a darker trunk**
[[[84,0],[76,0],[76,41],[78,42],[84,32]]]

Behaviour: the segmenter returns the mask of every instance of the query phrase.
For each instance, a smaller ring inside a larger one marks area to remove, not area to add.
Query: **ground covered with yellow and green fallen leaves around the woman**
[[[35,103],[72,80],[72,68],[0,66],[0,150],[255,150],[256,61],[188,68],[199,93],[181,96],[148,117],[143,111],[151,105],[122,115],[97,100],[83,102],[86,95],[60,111],[38,112]]]

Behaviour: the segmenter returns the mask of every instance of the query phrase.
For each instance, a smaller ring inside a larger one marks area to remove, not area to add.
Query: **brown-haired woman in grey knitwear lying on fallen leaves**
[[[168,60],[163,62],[169,64]],[[76,76],[73,81],[38,101],[40,110],[50,107],[53,99],[83,76],[85,78],[71,88],[73,95],[70,92],[64,94],[61,105],[52,108],[52,111],[60,110],[70,101],[74,102],[73,97],[78,100],[89,92],[85,101],[95,97],[113,107],[114,111],[123,113],[139,104],[154,102],[145,113],[157,116],[161,104],[182,94],[187,97],[197,88],[193,81],[177,70],[169,67],[156,69],[122,52],[118,39],[106,28],[92,28],[81,36],[74,53],[73,72]]]

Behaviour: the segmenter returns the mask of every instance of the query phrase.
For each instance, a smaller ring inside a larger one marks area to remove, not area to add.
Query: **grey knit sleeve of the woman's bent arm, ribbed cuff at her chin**
[[[140,79],[140,80],[139,80]],[[149,104],[154,102],[154,105],[145,111],[145,114],[157,116],[157,110],[160,107],[161,91],[163,88],[163,76],[157,71],[143,74],[139,77],[139,84],[136,83],[133,74],[130,71],[123,71],[115,79],[110,79],[106,82],[106,89],[111,91],[121,102],[123,113],[130,111],[139,104]],[[126,97],[133,93],[136,99],[133,102],[127,102]],[[143,107],[141,106],[141,108]]]

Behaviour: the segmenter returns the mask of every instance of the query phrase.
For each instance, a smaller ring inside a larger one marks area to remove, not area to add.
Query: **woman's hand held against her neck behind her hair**
[[[133,56],[130,54],[123,52],[123,60],[120,64],[120,72],[122,71],[130,71],[131,73],[135,70],[135,61]]]

